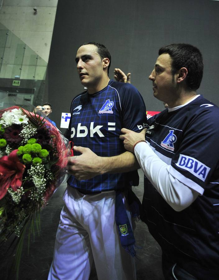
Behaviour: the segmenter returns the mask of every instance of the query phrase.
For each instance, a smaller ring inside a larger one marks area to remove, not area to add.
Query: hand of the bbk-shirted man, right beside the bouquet
[[[81,155],[68,157],[69,174],[75,176],[77,180],[87,180],[102,173],[100,156],[89,148],[74,146],[73,149]]]

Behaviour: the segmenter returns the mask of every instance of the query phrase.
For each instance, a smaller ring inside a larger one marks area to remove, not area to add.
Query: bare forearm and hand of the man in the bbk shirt
[[[97,156],[89,148],[73,147],[80,156],[68,157],[68,173],[77,180],[86,180],[104,173],[123,173],[140,168],[133,153],[124,152],[118,156]]]

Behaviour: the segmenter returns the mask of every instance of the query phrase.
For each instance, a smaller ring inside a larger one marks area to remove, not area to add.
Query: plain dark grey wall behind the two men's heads
[[[58,127],[61,112],[83,91],[75,55],[80,44],[96,41],[111,53],[109,77],[115,67],[132,73],[147,110],[163,110],[148,80],[158,49],[170,43],[197,46],[204,58],[198,93],[219,105],[219,1],[212,0],[59,0],[49,64],[48,96]]]

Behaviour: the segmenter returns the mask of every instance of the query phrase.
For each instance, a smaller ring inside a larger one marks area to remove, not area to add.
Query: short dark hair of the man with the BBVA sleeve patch
[[[200,50],[189,44],[170,44],[159,49],[159,55],[165,53],[172,58],[172,74],[182,67],[187,68],[187,87],[197,90],[203,76],[203,58]]]

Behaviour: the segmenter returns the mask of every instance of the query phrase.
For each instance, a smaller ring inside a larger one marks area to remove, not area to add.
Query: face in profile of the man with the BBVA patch
[[[169,54],[161,54],[149,76],[153,82],[154,97],[169,105],[176,98],[176,75],[172,75],[172,58]]]

